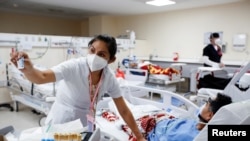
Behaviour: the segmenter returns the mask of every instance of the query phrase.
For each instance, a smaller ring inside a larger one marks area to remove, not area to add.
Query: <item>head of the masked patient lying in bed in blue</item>
[[[230,103],[231,97],[222,93],[218,93],[214,99],[209,98],[199,114],[200,121],[207,123],[222,106]]]

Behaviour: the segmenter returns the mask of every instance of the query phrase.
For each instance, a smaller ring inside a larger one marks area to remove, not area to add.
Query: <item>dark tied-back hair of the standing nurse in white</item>
[[[97,35],[91,41],[89,41],[88,46],[90,47],[95,41],[105,42],[110,54],[110,59],[113,59],[115,57],[115,54],[117,52],[117,44],[114,37],[105,34]]]

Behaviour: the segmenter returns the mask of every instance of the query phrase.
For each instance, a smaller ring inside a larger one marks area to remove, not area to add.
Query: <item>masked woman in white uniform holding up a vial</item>
[[[12,53],[11,61],[17,66],[17,61],[24,57],[24,68],[20,71],[33,83],[43,84],[62,80],[47,122],[51,120],[52,123],[58,124],[80,118],[84,126],[88,123],[91,128],[96,103],[105,92],[108,92],[137,140],[145,141],[121,96],[119,84],[108,67],[108,64],[116,59],[115,39],[98,35],[88,45],[87,57],[71,59],[44,71],[35,69],[25,52]]]

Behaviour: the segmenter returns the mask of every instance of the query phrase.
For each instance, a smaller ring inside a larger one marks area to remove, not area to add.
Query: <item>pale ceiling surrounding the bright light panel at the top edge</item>
[[[146,5],[148,0],[0,0],[0,11],[84,19],[98,15],[138,15],[206,7],[243,0],[172,0],[175,5]]]

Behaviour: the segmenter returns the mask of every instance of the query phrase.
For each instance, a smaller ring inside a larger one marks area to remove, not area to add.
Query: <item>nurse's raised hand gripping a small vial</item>
[[[19,70],[23,73],[27,73],[29,70],[31,70],[33,68],[33,64],[29,59],[29,56],[27,53],[25,52],[11,52],[10,53],[10,61],[17,67],[18,67],[18,61],[20,61],[21,59],[23,59],[23,67],[19,68]]]

